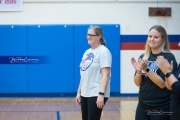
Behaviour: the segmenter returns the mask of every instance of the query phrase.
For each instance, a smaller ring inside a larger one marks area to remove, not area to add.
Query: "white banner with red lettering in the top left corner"
[[[0,11],[22,11],[22,0],[0,0]]]

